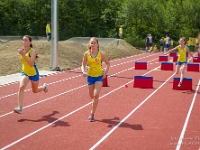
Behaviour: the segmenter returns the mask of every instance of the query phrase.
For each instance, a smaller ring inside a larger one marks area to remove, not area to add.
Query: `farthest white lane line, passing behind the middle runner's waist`
[[[153,55],[155,55],[155,54],[153,54]],[[116,65],[112,65],[111,68],[112,68],[112,67],[117,67],[117,66],[119,66],[119,65],[131,63],[131,62],[134,62],[134,61],[136,61],[136,60],[144,59],[144,58],[150,57],[150,56],[152,56],[152,55],[148,55],[148,56],[144,56],[144,57],[142,57],[142,58],[137,58],[137,59],[134,59],[134,60],[129,60],[129,61],[122,62],[122,63],[116,64]],[[125,59],[125,58],[124,58],[124,59]],[[156,58],[156,59],[158,59],[158,58]],[[153,60],[156,60],[156,59],[153,59]],[[151,61],[150,61],[150,62],[151,62]],[[68,78],[65,78],[65,79],[60,79],[60,80],[57,80],[57,81],[48,83],[47,85],[56,84],[56,83],[59,83],[59,82],[64,82],[64,81],[67,81],[67,80],[71,80],[71,79],[74,79],[74,78],[78,78],[78,77],[80,77],[80,76],[82,76],[82,75],[77,75],[77,76],[72,76],[72,77],[68,77]],[[28,92],[28,91],[31,91],[31,90],[32,90],[32,89],[27,89],[27,90],[25,90],[25,92]],[[2,97],[0,97],[0,100],[1,100],[1,99],[4,99],[4,98],[7,98],[7,97],[10,97],[10,96],[14,96],[14,95],[17,95],[17,92],[16,92],[16,93],[9,94],[9,95],[2,96]]]

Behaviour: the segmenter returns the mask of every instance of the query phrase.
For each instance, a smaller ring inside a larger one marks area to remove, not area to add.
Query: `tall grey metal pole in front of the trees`
[[[58,67],[58,0],[51,0],[51,70]]]

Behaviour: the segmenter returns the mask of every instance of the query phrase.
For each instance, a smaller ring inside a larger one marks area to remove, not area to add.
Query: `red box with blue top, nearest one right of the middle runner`
[[[153,88],[153,77],[151,76],[134,76],[134,88]]]

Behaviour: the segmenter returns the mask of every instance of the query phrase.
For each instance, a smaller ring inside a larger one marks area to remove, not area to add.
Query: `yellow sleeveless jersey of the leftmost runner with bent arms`
[[[31,59],[31,56],[30,56],[31,51],[32,51],[32,48],[30,48],[30,50],[25,54],[28,59]],[[24,72],[28,76],[36,75],[35,64],[34,66],[30,66],[21,55],[20,55],[20,59],[22,62],[22,72]]]

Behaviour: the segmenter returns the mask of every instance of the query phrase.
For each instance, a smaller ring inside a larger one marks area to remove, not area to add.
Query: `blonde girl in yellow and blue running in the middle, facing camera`
[[[81,70],[83,76],[87,76],[89,95],[92,99],[92,110],[88,119],[93,122],[94,113],[98,105],[99,93],[103,85],[103,79],[108,73],[110,62],[107,56],[99,51],[99,42],[97,38],[92,37],[90,39],[87,49],[88,51],[86,51],[83,56]],[[106,64],[105,70],[102,68],[102,61]],[[86,69],[86,64],[88,65],[88,70]]]

